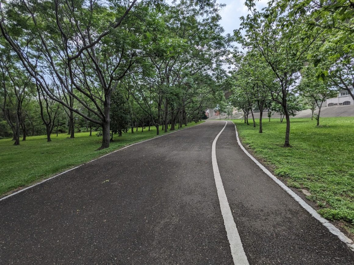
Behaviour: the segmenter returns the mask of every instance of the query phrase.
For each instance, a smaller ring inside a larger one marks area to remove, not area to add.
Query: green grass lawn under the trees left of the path
[[[188,124],[188,127],[196,123]],[[188,128],[187,127],[187,128]],[[185,127],[183,127],[185,128]],[[170,131],[169,131],[170,133]],[[164,134],[161,132],[160,135]],[[67,134],[52,135],[51,142],[46,136],[27,137],[19,146],[14,146],[11,139],[0,140],[0,196],[18,187],[40,181],[80,165],[91,159],[100,157],[120,147],[135,142],[150,139],[156,136],[155,126],[148,127],[141,132],[141,127],[134,134],[123,133],[122,137],[114,135],[110,147],[97,151],[101,146],[102,137],[97,137],[96,132],[76,133],[74,139]]]

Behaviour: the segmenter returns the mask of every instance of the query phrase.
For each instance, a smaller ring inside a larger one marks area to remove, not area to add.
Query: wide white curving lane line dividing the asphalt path
[[[230,249],[231,249],[231,254],[232,258],[234,260],[235,265],[249,265],[245,251],[242,247],[242,242],[240,235],[238,233],[238,230],[236,228],[236,224],[234,221],[234,218],[231,213],[230,205],[228,203],[225,190],[224,190],[224,185],[222,184],[220,172],[219,172],[219,167],[218,163],[216,160],[216,141],[218,140],[219,136],[223,132],[227,125],[227,121],[225,123],[224,128],[219,132],[219,134],[215,137],[212,148],[211,148],[211,157],[212,157],[212,165],[213,165],[213,171],[214,171],[214,179],[215,179],[215,185],[218,193],[218,198],[219,198],[219,203],[220,203],[220,209],[221,209],[221,214],[224,219],[224,225],[225,225],[225,230],[227,234],[227,238],[230,243]]]

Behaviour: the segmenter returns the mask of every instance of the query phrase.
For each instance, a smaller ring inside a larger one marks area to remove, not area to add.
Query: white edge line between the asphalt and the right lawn
[[[308,205],[303,199],[301,199],[301,197],[299,195],[297,195],[295,192],[293,192],[289,187],[287,187],[287,185],[285,185],[284,183],[282,183],[278,178],[276,178],[268,169],[266,169],[261,163],[258,162],[258,160],[256,158],[254,158],[249,152],[247,152],[247,150],[245,149],[245,147],[242,146],[240,138],[239,138],[239,134],[237,132],[237,128],[235,125],[235,132],[236,132],[236,138],[237,138],[237,142],[239,144],[239,146],[241,147],[241,149],[245,152],[245,154],[251,158],[253,160],[253,162],[256,163],[257,166],[259,166],[264,173],[266,173],[271,179],[273,179],[276,184],[278,184],[283,190],[285,190],[295,201],[297,201],[306,211],[308,211],[314,218],[316,218],[320,223],[322,223],[324,226],[326,226],[326,228],[333,234],[338,236],[338,238],[347,244],[348,247],[350,247],[350,249],[352,249],[352,251],[354,251],[354,242],[353,240],[351,240],[350,238],[348,238],[346,235],[344,235],[338,228],[336,228],[336,226],[334,226],[333,224],[331,224],[329,222],[329,220],[323,218],[320,216],[320,214],[318,212],[316,212],[316,210],[314,208],[312,208],[310,205]]]

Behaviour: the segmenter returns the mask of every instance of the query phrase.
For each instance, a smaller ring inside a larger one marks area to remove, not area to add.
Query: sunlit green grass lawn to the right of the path
[[[354,117],[321,118],[319,127],[315,119],[293,118],[291,148],[282,147],[285,120],[264,119],[263,134],[258,133],[258,123],[253,128],[253,123],[233,122],[243,145],[276,176],[291,187],[309,190],[307,198],[316,202],[323,217],[343,221],[354,233]]]

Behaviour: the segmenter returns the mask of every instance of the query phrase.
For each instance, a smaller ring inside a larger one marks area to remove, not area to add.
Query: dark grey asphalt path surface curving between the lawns
[[[82,165],[0,201],[0,264],[233,264],[210,121]],[[250,264],[354,264],[352,252],[238,146],[216,145]]]

